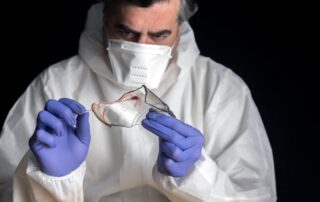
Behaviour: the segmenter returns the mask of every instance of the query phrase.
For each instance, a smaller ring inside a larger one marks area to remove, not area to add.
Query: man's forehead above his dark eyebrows
[[[111,9],[111,12],[109,11],[108,18],[129,26],[139,24],[164,26],[177,21],[179,7],[180,0],[160,1],[149,7],[139,7],[121,1]]]

